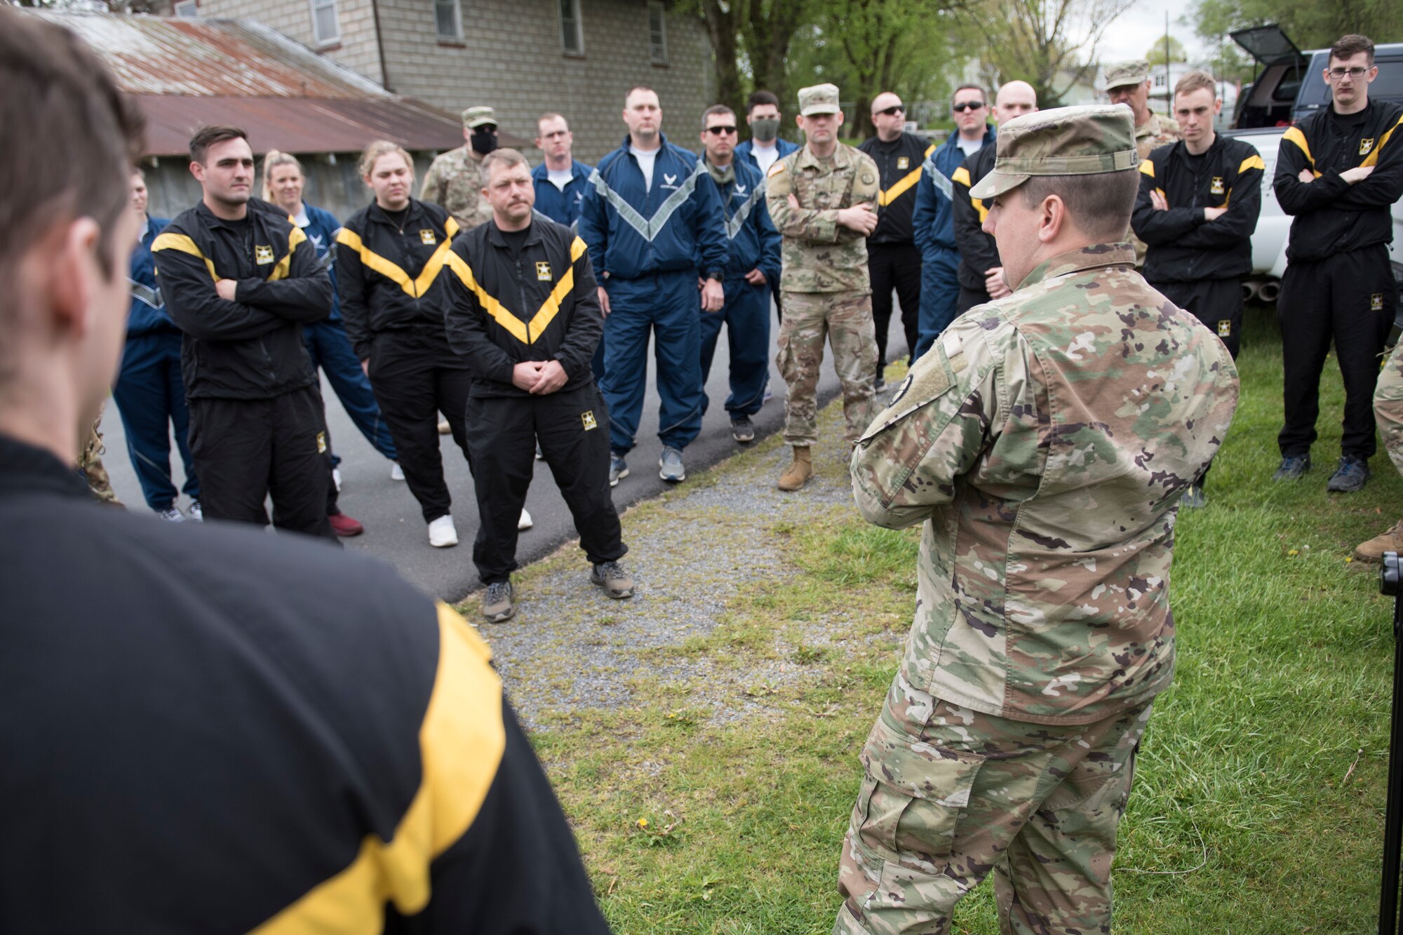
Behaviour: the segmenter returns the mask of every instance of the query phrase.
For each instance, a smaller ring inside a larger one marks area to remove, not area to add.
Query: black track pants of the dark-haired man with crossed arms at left
[[[189,400],[189,453],[205,518],[335,541],[327,522],[327,423],[316,387],[272,399]]]

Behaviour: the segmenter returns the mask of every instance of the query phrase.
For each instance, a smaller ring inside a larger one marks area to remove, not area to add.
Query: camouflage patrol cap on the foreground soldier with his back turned
[[[1138,166],[1135,121],[1128,107],[1056,107],[999,126],[993,171],[969,190],[969,197],[993,198],[1033,175],[1092,175]]]

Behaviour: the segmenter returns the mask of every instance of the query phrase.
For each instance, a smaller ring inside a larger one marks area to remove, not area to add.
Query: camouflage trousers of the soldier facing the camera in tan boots
[[[783,292],[779,354],[774,364],[788,383],[784,404],[784,441],[818,444],[818,371],[824,364],[824,337],[833,348],[833,369],[843,386],[843,432],[856,442],[867,431],[873,409],[873,375],[877,371],[877,330],[867,292]]]

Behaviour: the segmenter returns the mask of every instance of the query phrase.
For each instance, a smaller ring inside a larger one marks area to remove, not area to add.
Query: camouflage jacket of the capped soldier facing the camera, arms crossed
[[[877,163],[845,143],[832,159],[818,159],[801,146],[770,166],[765,199],[784,236],[781,291],[871,292],[867,239],[839,225],[838,211],[864,201],[875,211],[878,185]],[[797,209],[790,195],[798,199]]]

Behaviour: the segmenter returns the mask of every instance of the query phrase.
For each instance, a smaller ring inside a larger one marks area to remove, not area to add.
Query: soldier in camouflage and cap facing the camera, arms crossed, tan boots
[[[877,163],[838,142],[843,125],[838,87],[800,90],[798,108],[807,143],[770,166],[765,195],[770,218],[784,236],[784,320],[776,364],[788,383],[784,441],[794,448],[794,460],[780,477],[780,490],[798,490],[814,476],[810,446],[818,441],[824,336],[833,348],[833,368],[843,386],[849,442],[856,442],[871,420],[877,369],[866,240],[877,227]]]

